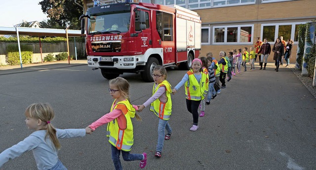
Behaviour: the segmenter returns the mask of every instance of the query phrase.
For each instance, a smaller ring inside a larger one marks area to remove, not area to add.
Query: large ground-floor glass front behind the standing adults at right
[[[292,39],[298,41],[298,27],[302,23],[280,23],[280,24],[261,24],[261,37],[267,38],[269,42],[275,42],[277,37],[283,36],[283,39]]]

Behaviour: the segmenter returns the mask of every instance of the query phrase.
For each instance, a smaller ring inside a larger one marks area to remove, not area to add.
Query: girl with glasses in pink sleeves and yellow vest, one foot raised
[[[122,170],[119,155],[122,153],[124,161],[140,160],[139,167],[145,168],[147,164],[147,154],[131,154],[130,150],[134,144],[133,124],[131,118],[136,117],[136,105],[129,102],[129,83],[124,78],[118,77],[110,80],[110,95],[114,100],[111,106],[111,112],[105,114],[88,127],[94,131],[99,126],[108,123],[107,137],[111,143],[112,160],[116,170]],[[110,123],[111,122],[111,123]]]

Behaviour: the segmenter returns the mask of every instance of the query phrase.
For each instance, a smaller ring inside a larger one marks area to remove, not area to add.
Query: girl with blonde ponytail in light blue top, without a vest
[[[86,129],[55,129],[51,124],[55,113],[49,103],[34,103],[25,110],[26,126],[34,130],[16,145],[0,153],[0,167],[26,151],[32,150],[39,170],[67,170],[58,159],[61,145],[58,138],[85,136],[92,131]]]

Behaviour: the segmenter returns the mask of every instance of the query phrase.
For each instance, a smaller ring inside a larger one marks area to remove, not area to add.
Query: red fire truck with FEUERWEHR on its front
[[[88,66],[100,68],[107,79],[133,72],[152,82],[155,66],[189,69],[199,56],[200,17],[177,5],[101,4],[88,8],[80,19]]]

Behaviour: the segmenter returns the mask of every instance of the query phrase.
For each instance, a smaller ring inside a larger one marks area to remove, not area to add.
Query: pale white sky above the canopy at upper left
[[[0,0],[0,27],[13,27],[23,20],[43,21],[47,15],[41,10],[41,0]]]

